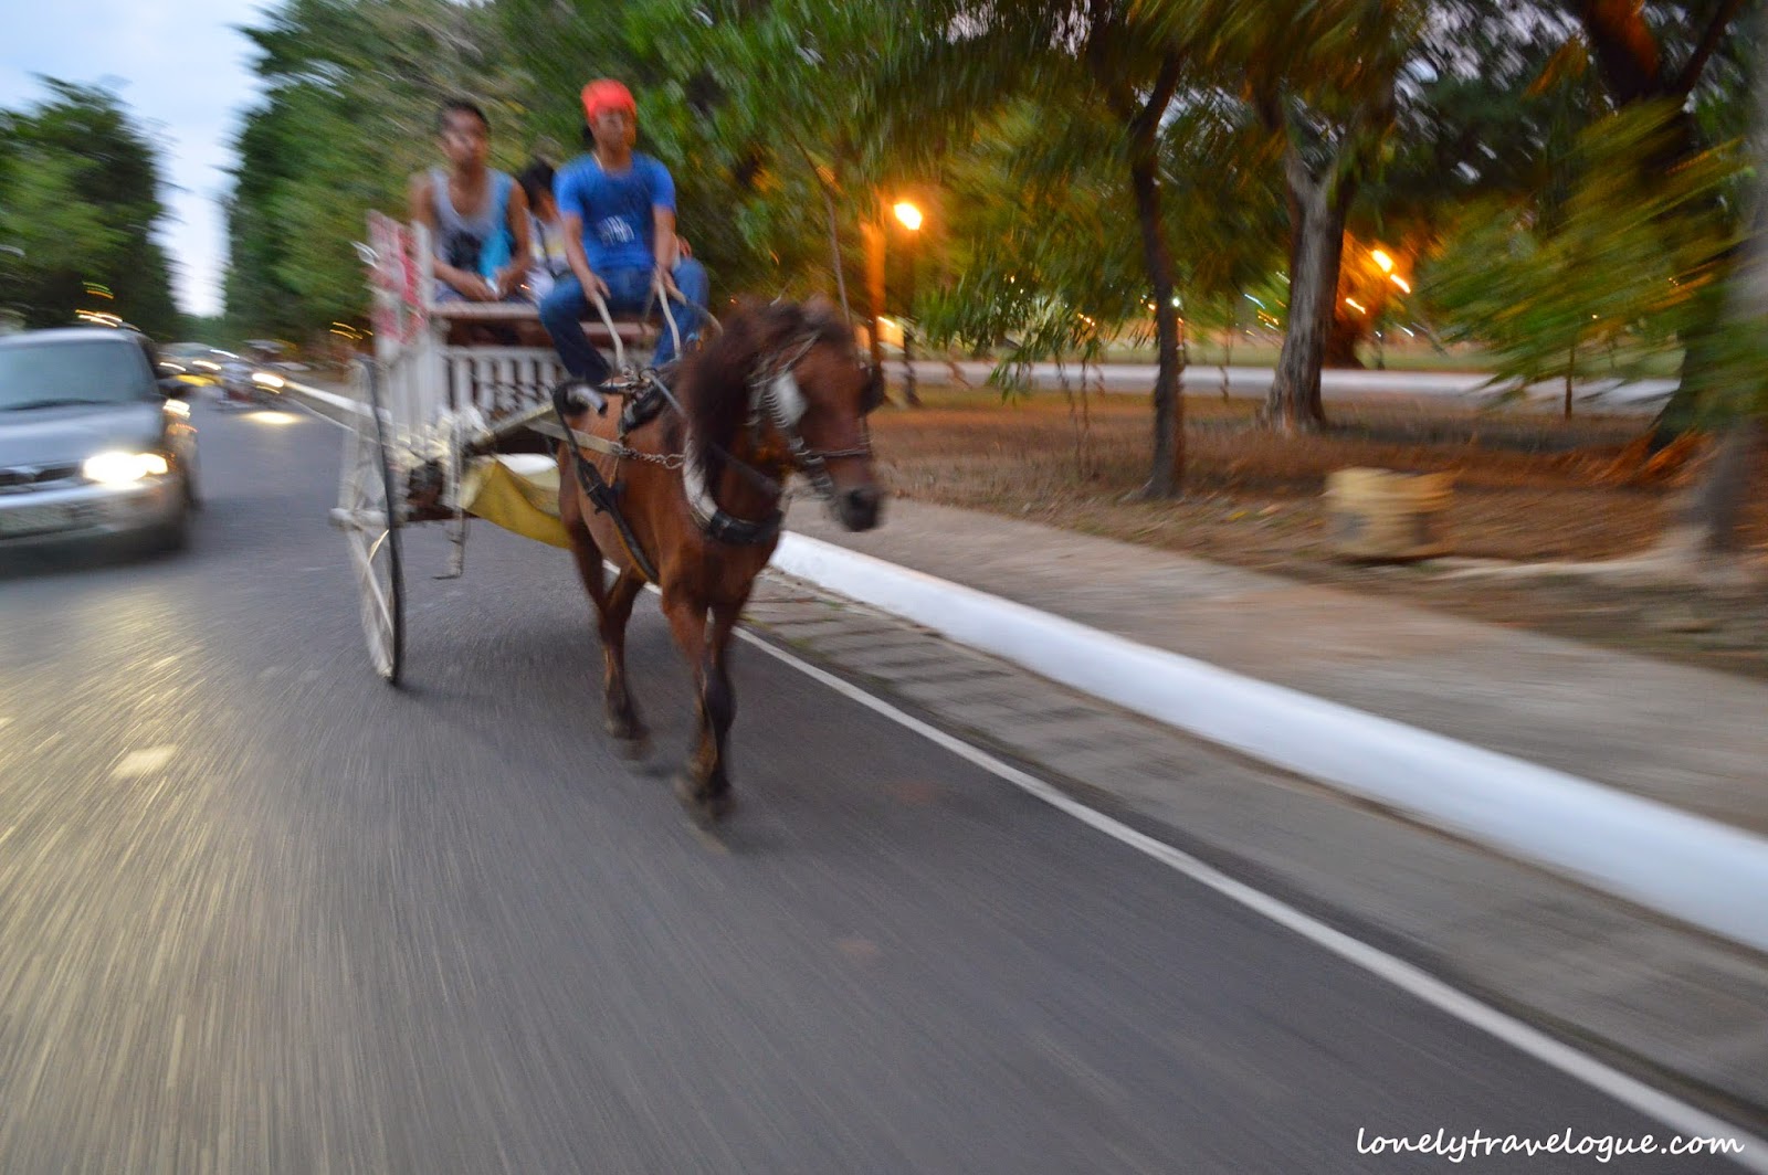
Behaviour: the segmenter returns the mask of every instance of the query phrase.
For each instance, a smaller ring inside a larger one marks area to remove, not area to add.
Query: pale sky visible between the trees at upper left
[[[221,313],[228,143],[256,101],[251,42],[263,0],[0,0],[0,108],[46,97],[39,74],[104,85],[163,147],[170,216],[159,235],[173,293],[191,315]]]

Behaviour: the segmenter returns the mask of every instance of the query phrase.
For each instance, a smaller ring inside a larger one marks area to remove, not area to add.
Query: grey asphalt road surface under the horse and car
[[[325,525],[338,429],[196,408],[157,560],[0,574],[0,1171],[1407,1171],[1374,1136],[1673,1131],[737,648],[601,735],[562,551],[490,527],[408,678]],[[1034,717],[1034,716],[1033,716]],[[1483,1157],[1466,1170],[1729,1170]]]

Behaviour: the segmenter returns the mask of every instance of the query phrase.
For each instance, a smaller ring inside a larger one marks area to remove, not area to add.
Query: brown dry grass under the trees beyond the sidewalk
[[[1462,615],[1768,675],[1761,594],[1642,592],[1589,583],[1453,581],[1406,567],[1358,567],[1328,546],[1322,489],[1368,465],[1455,477],[1455,555],[1588,560],[1628,555],[1660,534],[1673,481],[1628,484],[1642,417],[1476,412],[1441,401],[1331,408],[1321,435],[1276,436],[1254,405],[1186,401],[1186,488],[1142,502],[1153,413],[1128,396],[1059,394],[1002,403],[988,390],[925,392],[916,412],[873,421],[886,477],[909,498],[964,505],[1225,564],[1360,590],[1395,592]],[[1768,463],[1764,463],[1768,465]],[[1768,546],[1768,495],[1747,512]]]

